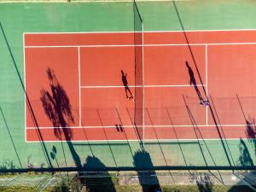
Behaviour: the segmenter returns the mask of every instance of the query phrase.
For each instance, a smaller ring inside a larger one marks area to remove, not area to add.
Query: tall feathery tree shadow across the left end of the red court
[[[67,92],[59,83],[52,69],[46,70],[50,90],[41,90],[40,100],[44,107],[44,113],[47,115],[54,127],[55,137],[59,140],[67,141],[67,146],[73,156],[73,161],[77,167],[82,168],[79,155],[73,148],[73,132],[69,125],[74,123],[72,107],[67,96]]]

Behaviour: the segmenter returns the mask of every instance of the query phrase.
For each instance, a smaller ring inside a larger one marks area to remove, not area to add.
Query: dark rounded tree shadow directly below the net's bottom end
[[[153,170],[154,168],[150,155],[144,149],[137,150],[134,154],[133,164],[137,170]],[[156,189],[160,189],[156,172],[137,171],[137,176],[143,192],[155,192]]]

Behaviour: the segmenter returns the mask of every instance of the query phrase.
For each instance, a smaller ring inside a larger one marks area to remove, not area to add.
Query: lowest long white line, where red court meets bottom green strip
[[[243,138],[243,139],[248,139],[248,140],[256,140],[256,138]],[[188,144],[191,144],[189,143],[189,141],[193,142],[193,143],[196,143],[198,144],[198,141],[219,141],[220,139],[219,138],[211,138],[211,139],[145,139],[144,142],[145,144],[150,144],[150,142],[154,142],[154,143],[158,143],[158,142],[162,142],[162,143],[166,143],[166,142],[170,142],[171,143],[178,143],[178,142],[188,142]],[[226,138],[226,140],[240,140],[240,138]],[[99,143],[101,144],[101,142],[125,142],[125,144],[127,144],[127,141],[129,142],[139,142],[139,140],[137,139],[124,139],[124,140],[78,140],[78,141],[65,141],[65,142],[72,142],[72,143]],[[41,141],[28,141],[26,143],[40,143]],[[44,143],[59,143],[61,141],[44,141]],[[62,141],[63,142],[63,141]],[[122,144],[122,143],[120,143]]]

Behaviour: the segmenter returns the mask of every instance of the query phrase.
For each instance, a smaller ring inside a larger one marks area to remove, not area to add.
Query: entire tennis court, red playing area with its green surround
[[[240,4],[1,3],[0,165],[252,168],[255,5]]]

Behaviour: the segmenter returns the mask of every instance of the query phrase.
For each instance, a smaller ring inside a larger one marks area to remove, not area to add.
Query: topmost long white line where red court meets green
[[[162,31],[158,31],[158,30],[148,30],[148,31],[144,31],[144,32],[247,32],[247,31],[256,31],[256,29],[201,29],[201,30],[162,30]],[[139,32],[139,31],[137,31]],[[134,33],[134,31],[123,31],[123,32],[23,32],[25,35],[26,34],[73,34],[73,33]]]

